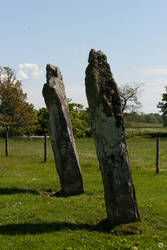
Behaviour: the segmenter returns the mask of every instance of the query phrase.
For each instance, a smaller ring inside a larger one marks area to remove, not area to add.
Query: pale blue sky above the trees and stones
[[[58,66],[66,95],[86,105],[91,48],[108,58],[118,84],[141,84],[142,112],[157,112],[167,85],[166,0],[0,0],[0,65],[16,70],[28,100],[45,106],[45,66]]]

